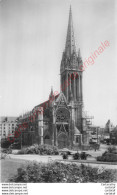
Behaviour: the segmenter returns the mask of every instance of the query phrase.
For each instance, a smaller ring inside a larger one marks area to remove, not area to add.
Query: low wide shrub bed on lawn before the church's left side
[[[18,154],[58,155],[59,152],[55,146],[34,144],[25,149],[21,149]]]

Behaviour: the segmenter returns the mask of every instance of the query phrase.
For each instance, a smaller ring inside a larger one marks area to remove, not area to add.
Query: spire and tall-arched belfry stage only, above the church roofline
[[[78,54],[76,52],[72,10],[70,6],[69,22],[67,29],[67,37],[65,50],[63,52],[60,75],[61,75],[61,91],[64,93],[68,103],[70,102],[70,96],[72,95],[74,102],[83,101],[82,92],[82,71],[79,67],[82,65],[82,58],[80,49]]]

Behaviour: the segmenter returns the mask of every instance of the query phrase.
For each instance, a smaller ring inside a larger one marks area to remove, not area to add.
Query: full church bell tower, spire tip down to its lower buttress
[[[60,67],[61,91],[66,97],[67,104],[72,105],[71,110],[72,113],[74,112],[74,117],[72,118],[72,120],[74,121],[74,125],[80,131],[80,133],[83,133],[83,72],[82,70],[80,70],[82,64],[83,62],[80,54],[80,49],[78,50],[78,52],[76,52],[72,10],[70,6],[66,44]]]

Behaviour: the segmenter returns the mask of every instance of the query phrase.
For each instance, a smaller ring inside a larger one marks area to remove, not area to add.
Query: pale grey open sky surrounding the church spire
[[[93,124],[117,125],[115,0],[0,0],[0,116],[19,116],[60,91],[60,63],[72,6],[83,62],[110,45],[83,73],[84,110]]]

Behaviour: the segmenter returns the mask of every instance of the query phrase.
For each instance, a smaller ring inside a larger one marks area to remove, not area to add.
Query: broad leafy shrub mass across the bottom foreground
[[[117,170],[100,170],[85,165],[30,163],[17,170],[9,179],[20,183],[106,183],[117,182]]]

